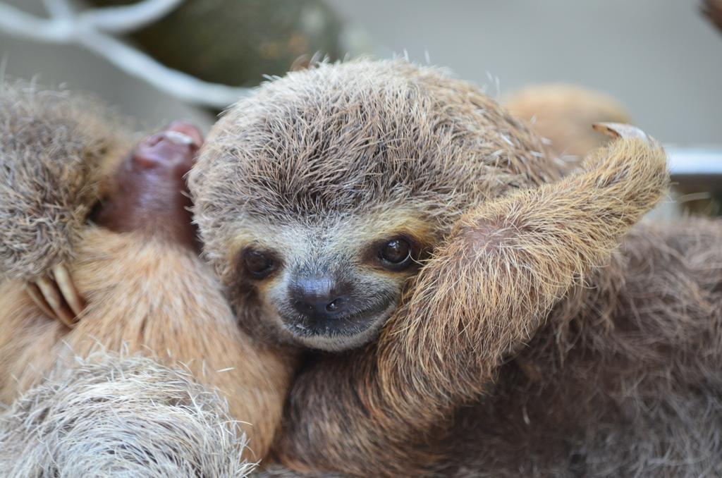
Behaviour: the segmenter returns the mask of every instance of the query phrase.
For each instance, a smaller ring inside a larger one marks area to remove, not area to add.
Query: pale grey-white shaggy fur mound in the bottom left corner
[[[143,357],[77,360],[0,416],[4,476],[244,477],[244,448],[225,401]]]

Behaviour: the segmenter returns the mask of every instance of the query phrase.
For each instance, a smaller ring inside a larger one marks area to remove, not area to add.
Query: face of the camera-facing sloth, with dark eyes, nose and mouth
[[[358,347],[377,336],[429,244],[414,220],[371,222],[257,225],[263,233],[253,227],[255,237],[242,235],[232,254],[234,283],[253,292],[271,322],[266,330],[324,350]]]

